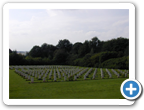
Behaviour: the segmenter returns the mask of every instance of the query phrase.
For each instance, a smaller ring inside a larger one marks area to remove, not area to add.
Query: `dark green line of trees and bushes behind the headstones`
[[[97,68],[129,68],[129,39],[119,37],[100,41],[93,37],[72,44],[59,40],[56,46],[43,43],[35,45],[26,56],[9,49],[10,65],[73,65]]]

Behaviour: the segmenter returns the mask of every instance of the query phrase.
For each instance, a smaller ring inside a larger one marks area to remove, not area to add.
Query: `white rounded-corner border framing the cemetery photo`
[[[47,8],[48,7],[48,8]],[[135,79],[135,6],[132,3],[6,3],[3,6],[3,102],[7,105],[132,105],[127,99],[9,99],[9,9],[129,9],[129,79]]]

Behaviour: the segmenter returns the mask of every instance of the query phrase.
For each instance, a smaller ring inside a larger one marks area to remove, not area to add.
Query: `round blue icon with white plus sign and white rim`
[[[121,93],[126,99],[136,99],[141,93],[141,85],[136,80],[125,80],[121,85]]]

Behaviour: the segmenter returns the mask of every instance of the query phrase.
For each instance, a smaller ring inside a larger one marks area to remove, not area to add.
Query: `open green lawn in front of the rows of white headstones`
[[[121,83],[127,78],[28,83],[9,69],[10,99],[124,99]]]

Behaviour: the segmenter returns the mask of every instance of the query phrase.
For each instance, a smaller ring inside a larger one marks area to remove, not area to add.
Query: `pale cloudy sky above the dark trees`
[[[43,43],[72,44],[97,36],[129,38],[128,9],[9,9],[9,48],[30,51]]]

